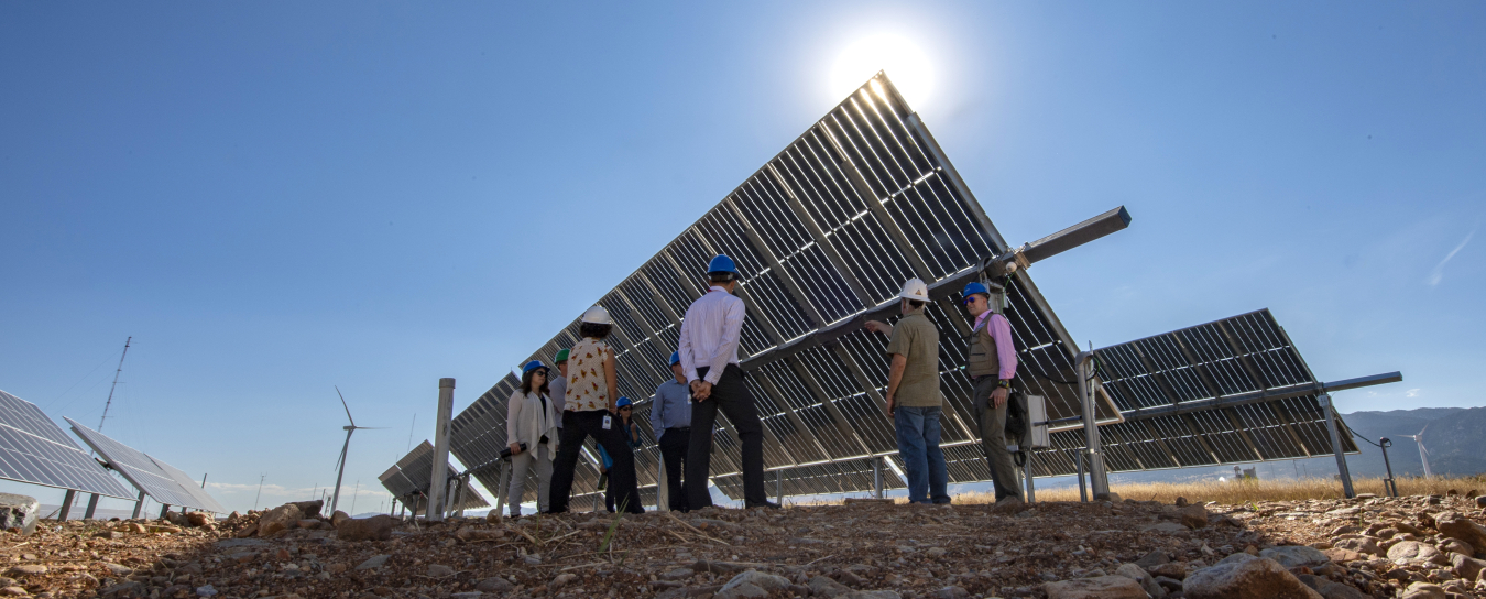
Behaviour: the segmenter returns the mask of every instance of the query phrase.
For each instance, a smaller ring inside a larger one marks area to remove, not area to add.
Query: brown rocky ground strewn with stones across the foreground
[[[1479,499],[878,502],[401,523],[318,502],[0,534],[39,598],[1486,598]],[[196,526],[193,526],[196,525]]]

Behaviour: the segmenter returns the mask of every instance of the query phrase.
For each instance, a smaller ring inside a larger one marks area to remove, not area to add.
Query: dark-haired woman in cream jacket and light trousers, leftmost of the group
[[[557,406],[547,389],[547,364],[538,360],[522,369],[522,388],[505,406],[505,440],[511,447],[511,516],[522,514],[526,473],[536,468],[536,508],[547,511],[553,480],[553,455],[557,453]]]

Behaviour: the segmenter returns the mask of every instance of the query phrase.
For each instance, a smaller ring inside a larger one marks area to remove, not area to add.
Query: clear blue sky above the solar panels
[[[104,433],[242,510],[333,483],[340,385],[391,427],[346,473],[380,492],[438,378],[473,401],[889,36],[1009,241],[1134,214],[1031,271],[1080,343],[1268,306],[1323,379],[1404,373],[1343,412],[1480,406],[1483,31],[1479,1],[3,3],[0,389],[97,422],[132,334]]]

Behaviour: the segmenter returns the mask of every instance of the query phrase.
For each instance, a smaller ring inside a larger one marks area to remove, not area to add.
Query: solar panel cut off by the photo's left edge
[[[0,391],[0,479],[134,499],[42,409]]]

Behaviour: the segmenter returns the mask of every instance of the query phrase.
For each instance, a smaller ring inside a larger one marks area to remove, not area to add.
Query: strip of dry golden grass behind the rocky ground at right
[[[1444,495],[1449,490],[1486,493],[1486,474],[1470,477],[1397,479],[1398,495]],[[1352,479],[1358,493],[1383,493],[1382,479]],[[1192,502],[1247,504],[1251,501],[1339,499],[1342,483],[1330,479],[1195,482],[1195,483],[1134,483],[1110,485],[1110,490],[1125,499],[1161,501],[1169,504],[1178,496]],[[961,493],[957,504],[988,504],[991,493]],[[1079,488],[1037,490],[1037,501],[1079,501]]]

